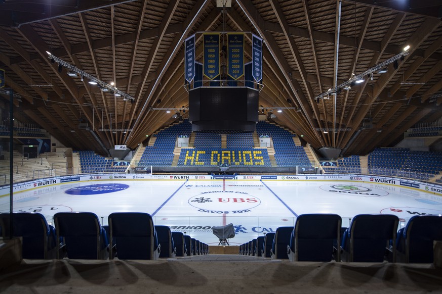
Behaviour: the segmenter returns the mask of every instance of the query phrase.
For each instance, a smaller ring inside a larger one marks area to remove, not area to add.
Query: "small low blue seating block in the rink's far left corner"
[[[82,173],[124,173],[127,166],[112,166],[113,159],[102,157],[93,151],[78,151]]]

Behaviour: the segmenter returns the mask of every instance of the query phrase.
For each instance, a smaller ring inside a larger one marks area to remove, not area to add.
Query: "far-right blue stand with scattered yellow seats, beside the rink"
[[[442,171],[442,153],[407,148],[375,149],[368,156],[369,173],[427,181]]]

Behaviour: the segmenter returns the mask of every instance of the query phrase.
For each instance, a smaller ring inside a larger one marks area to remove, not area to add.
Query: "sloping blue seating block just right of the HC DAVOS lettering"
[[[275,160],[279,167],[311,167],[310,160],[302,146],[296,146],[293,135],[288,130],[268,122],[259,121],[256,124],[258,136],[268,135],[272,138],[275,150]]]

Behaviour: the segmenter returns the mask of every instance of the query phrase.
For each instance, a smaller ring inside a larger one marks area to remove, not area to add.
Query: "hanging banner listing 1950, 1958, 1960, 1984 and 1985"
[[[219,33],[203,36],[204,75],[213,80],[219,75]]]

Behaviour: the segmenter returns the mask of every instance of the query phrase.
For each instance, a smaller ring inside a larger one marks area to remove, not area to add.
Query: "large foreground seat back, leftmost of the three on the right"
[[[290,245],[291,261],[331,261],[333,246],[341,239],[342,219],[337,214],[303,214],[296,218]],[[340,250],[337,250],[340,261]]]

